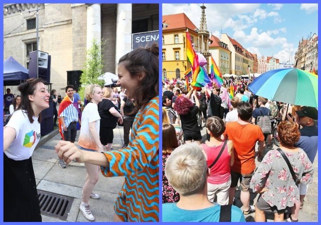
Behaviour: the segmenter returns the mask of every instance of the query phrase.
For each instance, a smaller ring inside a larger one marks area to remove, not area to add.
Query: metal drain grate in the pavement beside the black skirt
[[[38,190],[40,211],[42,214],[66,220],[73,198]]]

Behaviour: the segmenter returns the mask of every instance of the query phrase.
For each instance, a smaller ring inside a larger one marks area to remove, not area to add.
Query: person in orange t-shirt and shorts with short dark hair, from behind
[[[239,120],[226,125],[223,136],[231,140],[234,146],[234,164],[231,166],[232,183],[229,190],[229,203],[233,203],[238,181],[241,182],[241,202],[245,215],[255,211],[250,205],[249,186],[255,170],[255,144],[259,141],[257,157],[262,158],[265,143],[259,126],[249,123],[253,108],[249,102],[240,102],[237,106]]]

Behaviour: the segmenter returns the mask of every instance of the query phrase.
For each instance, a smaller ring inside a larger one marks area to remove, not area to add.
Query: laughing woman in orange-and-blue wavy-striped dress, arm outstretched
[[[104,176],[125,176],[114,205],[114,221],[158,221],[158,52],[157,44],[119,59],[117,84],[135,99],[136,113],[125,149],[96,153],[60,141],[56,152],[66,163],[76,159],[101,166]]]

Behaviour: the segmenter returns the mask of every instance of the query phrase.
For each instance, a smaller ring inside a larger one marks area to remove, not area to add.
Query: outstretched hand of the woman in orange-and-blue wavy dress
[[[84,160],[83,151],[78,149],[74,143],[59,141],[55,149],[59,159],[64,159],[67,164],[73,159],[76,159],[77,162],[83,162]]]

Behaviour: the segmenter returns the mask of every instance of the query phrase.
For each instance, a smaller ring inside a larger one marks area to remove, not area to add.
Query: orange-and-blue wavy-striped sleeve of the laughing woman
[[[130,176],[148,167],[158,157],[158,97],[140,109],[132,127],[131,142],[126,149],[104,152],[109,167],[101,167],[104,176]]]

